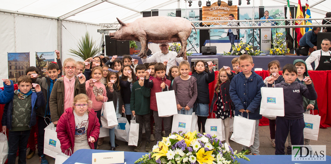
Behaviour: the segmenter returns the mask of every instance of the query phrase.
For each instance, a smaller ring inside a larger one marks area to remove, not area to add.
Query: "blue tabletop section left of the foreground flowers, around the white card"
[[[80,149],[73,153],[63,164],[74,164],[75,162],[92,164],[92,153],[110,152],[109,150],[94,150],[94,149]],[[133,164],[137,159],[143,155],[148,154],[141,152],[124,151],[124,162]]]

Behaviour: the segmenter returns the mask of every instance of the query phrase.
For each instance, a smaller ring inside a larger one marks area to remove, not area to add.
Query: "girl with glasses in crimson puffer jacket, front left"
[[[91,103],[86,94],[76,95],[73,106],[66,109],[56,126],[61,150],[69,156],[79,149],[94,149],[99,138],[99,119]]]

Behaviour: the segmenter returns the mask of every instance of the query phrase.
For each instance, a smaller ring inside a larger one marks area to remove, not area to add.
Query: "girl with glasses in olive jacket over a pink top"
[[[49,97],[51,121],[56,125],[64,109],[72,107],[73,98],[80,93],[86,94],[85,76],[76,77],[76,61],[67,58],[63,62],[65,76],[56,80]]]

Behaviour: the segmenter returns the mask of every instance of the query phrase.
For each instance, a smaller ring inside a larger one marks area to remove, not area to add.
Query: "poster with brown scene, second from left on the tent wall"
[[[47,75],[47,67],[51,62],[55,62],[53,52],[36,52],[36,68],[39,72],[39,78]]]

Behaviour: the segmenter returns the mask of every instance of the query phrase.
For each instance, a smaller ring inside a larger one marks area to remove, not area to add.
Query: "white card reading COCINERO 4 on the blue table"
[[[124,163],[124,151],[92,153],[92,164]]]

